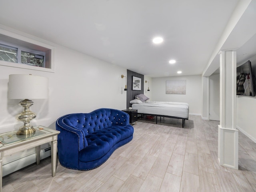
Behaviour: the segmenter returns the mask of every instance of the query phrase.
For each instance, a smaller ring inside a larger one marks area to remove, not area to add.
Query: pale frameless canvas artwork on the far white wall
[[[166,80],[165,94],[186,94],[186,80]]]

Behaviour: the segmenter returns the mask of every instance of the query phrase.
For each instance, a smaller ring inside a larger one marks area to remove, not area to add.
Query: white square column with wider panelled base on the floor
[[[236,51],[220,53],[220,125],[218,126],[220,165],[238,169],[236,129]]]

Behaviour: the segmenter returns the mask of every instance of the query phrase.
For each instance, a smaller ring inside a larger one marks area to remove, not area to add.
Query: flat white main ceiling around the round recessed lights
[[[238,2],[9,0],[1,3],[0,24],[147,76],[197,75]],[[155,36],[164,42],[152,44]]]

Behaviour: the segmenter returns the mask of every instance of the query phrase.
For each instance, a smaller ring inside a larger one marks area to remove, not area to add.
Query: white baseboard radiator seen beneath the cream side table
[[[51,156],[51,146],[45,146],[40,149],[40,160],[49,156]],[[35,148],[18,152],[11,156],[5,157],[3,158],[2,176],[11,174],[35,162],[36,162]]]

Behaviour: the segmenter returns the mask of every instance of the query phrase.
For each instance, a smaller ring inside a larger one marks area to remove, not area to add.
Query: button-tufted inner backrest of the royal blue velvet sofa
[[[111,126],[126,126],[129,124],[129,115],[120,110],[101,108],[90,113],[66,115],[62,122],[66,126],[83,130],[85,136]]]

